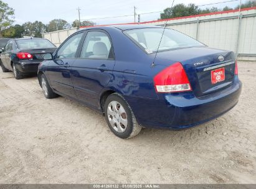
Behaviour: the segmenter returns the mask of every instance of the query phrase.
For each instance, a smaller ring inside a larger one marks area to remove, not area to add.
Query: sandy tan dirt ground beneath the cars
[[[240,101],[186,131],[114,136],[102,115],[0,72],[0,183],[256,183],[256,62]]]

